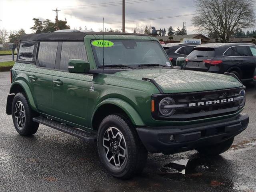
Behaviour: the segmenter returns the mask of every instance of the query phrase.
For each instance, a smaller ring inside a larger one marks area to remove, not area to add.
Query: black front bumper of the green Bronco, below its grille
[[[245,130],[248,123],[249,116],[240,113],[229,119],[194,125],[138,127],[137,132],[149,152],[174,154],[228,140]]]

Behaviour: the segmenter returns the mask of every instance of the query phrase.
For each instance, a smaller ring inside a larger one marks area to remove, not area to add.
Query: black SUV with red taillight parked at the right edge
[[[252,80],[256,46],[251,43],[209,43],[193,48],[186,57],[186,70],[230,72],[240,80]]]

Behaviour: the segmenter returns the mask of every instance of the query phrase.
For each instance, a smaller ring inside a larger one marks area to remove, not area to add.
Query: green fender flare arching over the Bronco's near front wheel
[[[98,108],[100,108],[104,104],[113,104],[113,105],[118,106],[128,115],[128,117],[132,121],[132,124],[137,125],[137,126],[145,126],[145,124],[144,124],[142,118],[140,117],[140,115],[138,114],[138,112],[128,102],[121,100],[119,98],[108,98],[108,99],[100,102],[100,104],[98,104],[96,106],[96,108],[94,109],[94,112],[92,114],[91,125],[92,125],[92,120],[94,118],[94,114],[96,113]]]

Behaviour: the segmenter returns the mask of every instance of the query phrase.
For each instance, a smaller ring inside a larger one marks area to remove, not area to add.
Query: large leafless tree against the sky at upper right
[[[196,0],[198,16],[192,24],[198,32],[217,34],[228,42],[234,32],[255,26],[253,0]]]

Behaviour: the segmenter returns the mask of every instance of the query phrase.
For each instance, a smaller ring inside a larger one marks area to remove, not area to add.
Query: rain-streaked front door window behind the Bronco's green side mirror
[[[68,70],[68,60],[70,59],[88,61],[84,42],[62,42],[60,70]]]

